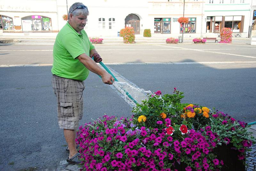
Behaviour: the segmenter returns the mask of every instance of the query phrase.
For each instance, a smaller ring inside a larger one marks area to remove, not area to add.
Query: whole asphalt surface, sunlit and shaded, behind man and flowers
[[[184,92],[182,102],[216,107],[245,122],[256,121],[256,46],[97,45],[96,48],[104,63],[140,88],[161,90],[165,94],[176,87]],[[0,46],[0,64],[51,64],[51,50],[52,46]],[[51,67],[0,67],[0,73],[0,170],[56,169],[68,154],[63,131],[57,124]],[[116,90],[103,84],[97,75],[91,73],[85,85],[85,110],[80,125],[105,113],[118,117],[132,114],[132,108]]]

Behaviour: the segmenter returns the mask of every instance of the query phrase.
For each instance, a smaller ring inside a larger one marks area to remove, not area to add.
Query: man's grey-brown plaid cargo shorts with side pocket
[[[52,75],[52,88],[57,96],[59,127],[77,129],[79,120],[83,117],[84,82]]]

